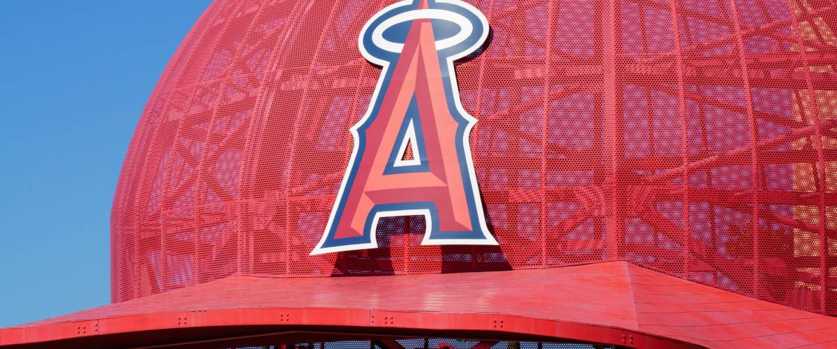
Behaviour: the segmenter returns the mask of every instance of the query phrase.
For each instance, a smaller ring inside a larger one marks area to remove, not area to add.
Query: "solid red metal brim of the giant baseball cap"
[[[638,347],[837,346],[833,317],[625,262],[370,281],[236,276],[3,329],[0,345],[66,340],[52,344],[104,346],[124,344],[132,334],[131,343],[150,345],[167,341],[158,336],[218,338],[240,334],[245,326],[250,336],[447,331],[470,338],[530,336]],[[297,340],[306,338],[318,337]]]

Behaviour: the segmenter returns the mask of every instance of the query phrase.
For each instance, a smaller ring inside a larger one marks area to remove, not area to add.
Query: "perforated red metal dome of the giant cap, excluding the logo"
[[[552,268],[627,260],[837,315],[837,3],[480,0],[456,67],[496,247],[309,256],[380,69],[390,2],[218,0],[151,95],[116,190],[112,300],[229,275]]]

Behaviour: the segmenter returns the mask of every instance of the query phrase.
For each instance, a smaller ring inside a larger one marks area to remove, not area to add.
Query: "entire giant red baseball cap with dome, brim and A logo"
[[[217,0],[0,345],[837,346],[835,6]]]

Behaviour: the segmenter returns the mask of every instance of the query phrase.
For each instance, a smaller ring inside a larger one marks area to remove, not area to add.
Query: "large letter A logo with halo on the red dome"
[[[358,45],[383,67],[326,232],[311,254],[372,249],[382,217],[424,215],[422,244],[497,244],[485,214],[460,104],[454,60],[480,47],[488,23],[459,0],[394,3],[363,27]]]

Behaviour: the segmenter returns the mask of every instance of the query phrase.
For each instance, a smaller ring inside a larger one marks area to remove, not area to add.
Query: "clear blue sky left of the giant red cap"
[[[110,203],[136,121],[209,0],[0,10],[0,327],[110,302]]]

